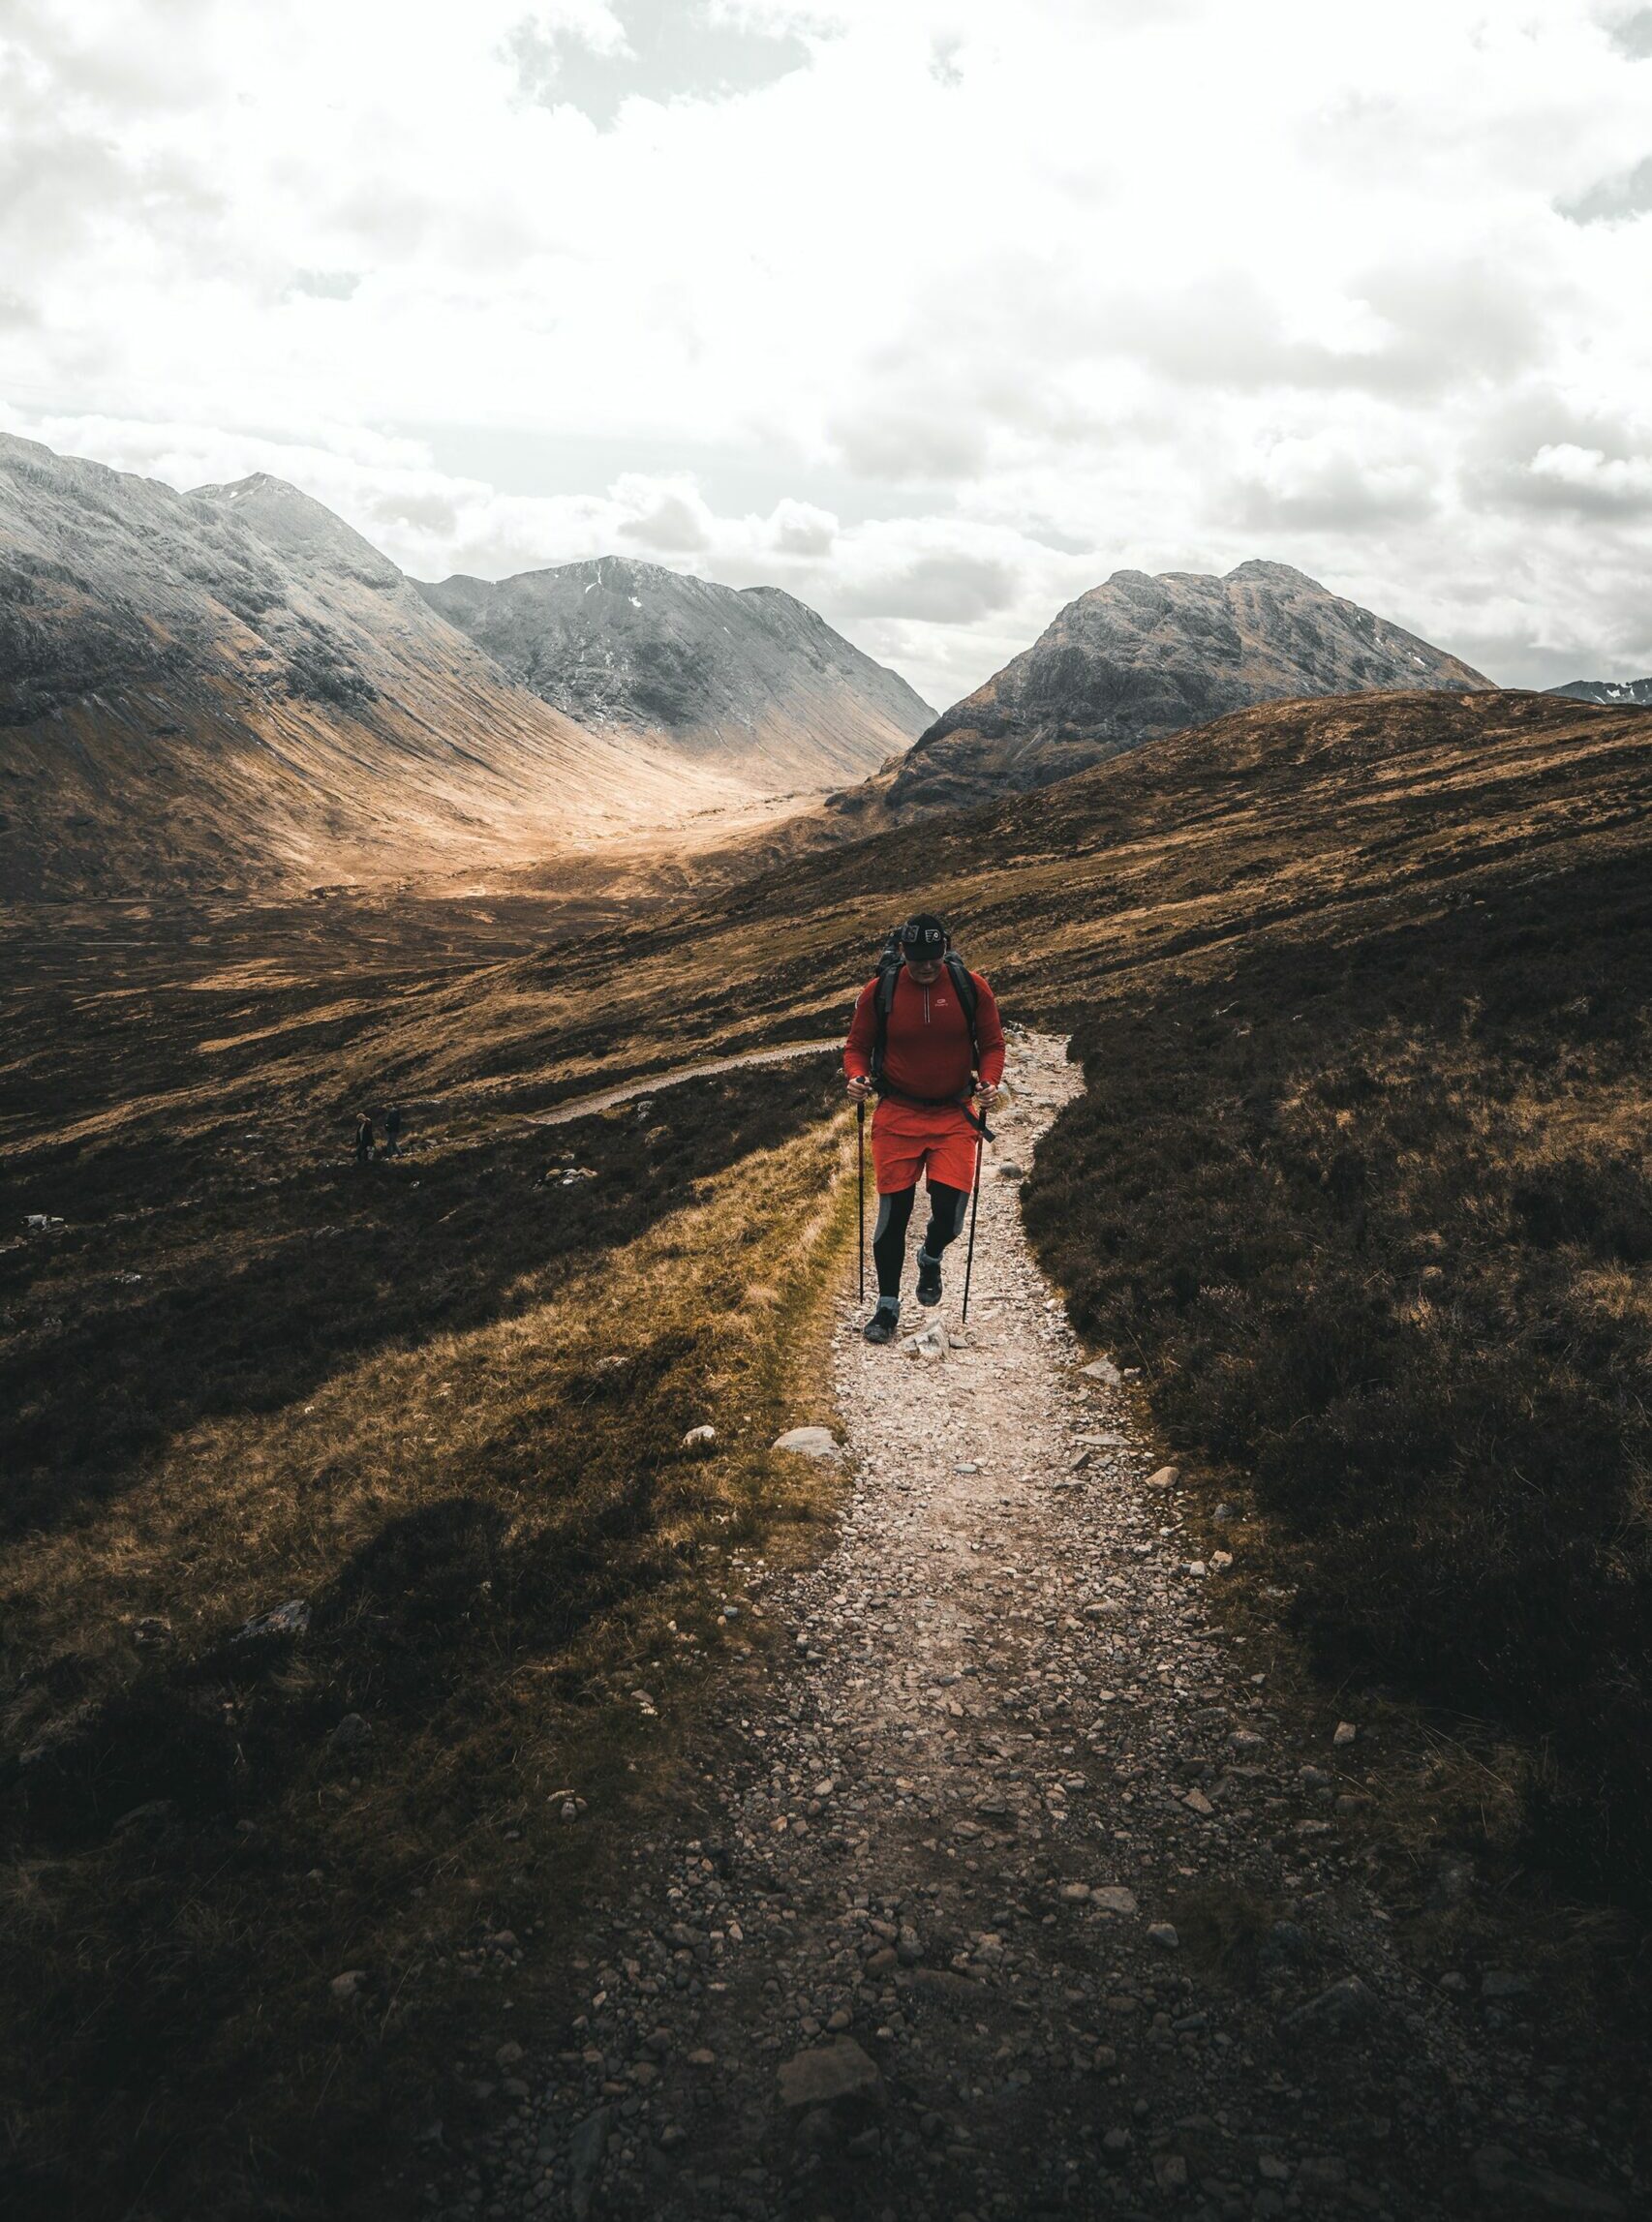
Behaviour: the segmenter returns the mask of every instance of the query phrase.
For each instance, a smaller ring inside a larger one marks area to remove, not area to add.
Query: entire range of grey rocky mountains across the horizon
[[[178,493],[0,436],[0,895],[429,878],[836,787],[778,829],[765,804],[745,869],[1263,702],[1485,687],[1243,562],[1116,571],[927,722],[774,587],[616,556],[420,584],[282,480]]]

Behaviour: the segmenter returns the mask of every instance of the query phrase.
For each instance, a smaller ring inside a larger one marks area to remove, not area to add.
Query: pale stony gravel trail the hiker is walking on
[[[500,2049],[498,2126],[425,2209],[1632,2215],[1523,1973],[1394,1949],[1359,1724],[1276,1711],[1207,1613],[1221,1555],[1021,1227],[1081,1075],[1014,1035],[1009,1082],[967,1335],[872,1349],[840,1300],[852,1495],[743,1607],[794,1662],[732,1698],[734,1764],[614,1878],[583,2011]],[[963,1242],[934,1318],[961,1284]]]

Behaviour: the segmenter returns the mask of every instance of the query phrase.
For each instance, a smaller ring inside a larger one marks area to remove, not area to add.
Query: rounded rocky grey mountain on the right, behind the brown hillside
[[[1490,684],[1290,564],[1243,562],[1225,578],[1114,571],[878,784],[894,815],[923,815],[1047,787],[1254,702]]]

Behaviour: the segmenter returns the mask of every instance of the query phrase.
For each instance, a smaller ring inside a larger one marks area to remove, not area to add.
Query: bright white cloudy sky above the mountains
[[[1652,671],[1652,7],[0,0],[0,429],[936,704],[1121,567]]]

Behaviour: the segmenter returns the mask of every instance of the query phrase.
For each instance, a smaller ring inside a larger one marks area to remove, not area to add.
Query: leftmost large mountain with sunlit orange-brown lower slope
[[[458,869],[734,795],[516,687],[296,487],[0,436],[0,895]]]

